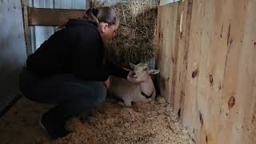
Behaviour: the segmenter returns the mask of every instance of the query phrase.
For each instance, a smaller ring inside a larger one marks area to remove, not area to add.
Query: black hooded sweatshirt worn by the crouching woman
[[[74,74],[83,80],[105,81],[111,74],[126,78],[126,70],[103,62],[103,59],[104,46],[97,26],[76,19],[43,42],[27,58],[26,69],[38,77]]]

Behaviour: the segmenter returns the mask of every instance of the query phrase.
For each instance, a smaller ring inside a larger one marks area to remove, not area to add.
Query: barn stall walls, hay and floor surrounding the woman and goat
[[[255,143],[256,2],[150,2],[2,1],[2,31],[15,33],[1,33],[1,143]],[[122,25],[110,58],[157,67],[159,94],[130,107],[108,98],[89,121],[72,118],[66,125],[72,133],[52,142],[38,126],[51,106],[18,94],[18,71],[57,26],[90,6],[116,6]],[[133,17],[133,10],[140,12]]]

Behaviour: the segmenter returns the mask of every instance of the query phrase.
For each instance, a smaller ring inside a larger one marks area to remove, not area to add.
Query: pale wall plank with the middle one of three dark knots
[[[194,25],[202,27],[198,29],[197,33],[198,37],[201,39],[201,43],[199,44],[200,51],[198,51],[200,53],[198,90],[193,97],[196,97],[195,99],[197,100],[198,106],[198,111],[194,111],[194,113],[199,113],[198,119],[200,122],[200,126],[195,127],[195,129],[198,130],[196,137],[198,143],[206,143],[209,141],[208,139],[210,139],[210,135],[208,134],[209,122],[212,116],[209,109],[209,107],[212,106],[210,101],[214,101],[211,99],[209,91],[213,92],[218,97],[218,90],[217,92],[214,90],[216,87],[214,86],[214,77],[217,77],[217,75],[214,74],[214,68],[217,65],[214,58],[218,55],[218,49],[212,49],[211,47],[214,45],[214,43],[212,43],[214,37],[214,34],[212,34],[214,25],[214,1],[202,2],[200,9],[200,19],[198,22],[194,22]],[[191,35],[191,38],[192,37],[194,37],[193,34]],[[193,45],[193,42],[190,43],[190,45]],[[198,122],[195,121],[195,123]]]

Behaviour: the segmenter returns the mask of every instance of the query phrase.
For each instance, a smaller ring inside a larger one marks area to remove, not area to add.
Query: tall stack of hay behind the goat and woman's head
[[[107,58],[117,65],[146,62],[154,58],[158,0],[118,0],[112,7],[120,18],[118,33],[107,46]],[[93,7],[110,6],[110,1],[94,0]]]

